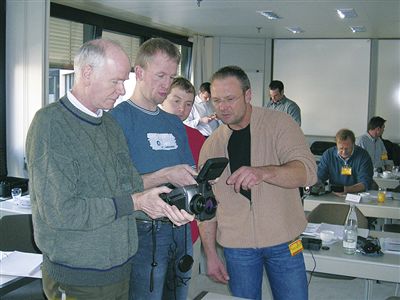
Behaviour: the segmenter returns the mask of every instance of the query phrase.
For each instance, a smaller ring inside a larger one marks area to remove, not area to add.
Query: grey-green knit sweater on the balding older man
[[[64,97],[36,113],[26,153],[34,236],[47,273],[83,286],[127,279],[137,249],[130,194],[143,183],[117,123]]]

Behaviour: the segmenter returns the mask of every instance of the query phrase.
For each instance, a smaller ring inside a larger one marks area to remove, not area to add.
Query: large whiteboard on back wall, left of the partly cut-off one
[[[366,131],[370,40],[275,40],[273,79],[301,109],[306,135]]]

